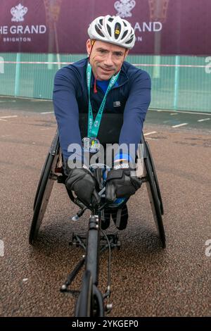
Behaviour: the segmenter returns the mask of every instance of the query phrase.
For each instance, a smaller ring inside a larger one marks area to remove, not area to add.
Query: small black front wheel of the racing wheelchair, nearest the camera
[[[75,317],[103,317],[103,296],[92,282],[91,273],[85,270],[82,289],[77,299]]]

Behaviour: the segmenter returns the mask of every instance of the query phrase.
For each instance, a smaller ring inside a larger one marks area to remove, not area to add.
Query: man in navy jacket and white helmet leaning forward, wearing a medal
[[[96,153],[101,144],[115,142],[116,135],[120,145],[134,144],[136,151],[151,101],[151,78],[124,61],[135,43],[134,30],[127,20],[100,16],[89,25],[88,35],[89,58],[56,73],[53,105],[67,176],[65,185],[83,204],[95,206],[100,199],[98,182],[85,152]],[[109,127],[106,118],[110,118]],[[82,152],[75,154],[72,144],[81,146]],[[73,156],[82,166],[72,166]],[[141,180],[132,175],[135,158],[136,152],[121,151],[113,157],[106,177],[109,204],[101,220],[103,230],[110,225],[111,217],[119,230],[127,226],[126,202],[141,187]]]

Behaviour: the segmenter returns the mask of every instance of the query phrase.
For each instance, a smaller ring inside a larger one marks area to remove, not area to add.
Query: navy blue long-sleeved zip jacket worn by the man
[[[65,159],[70,156],[69,144],[82,144],[79,113],[88,112],[87,61],[88,58],[84,58],[61,68],[54,80],[53,106]],[[97,93],[94,93],[92,77],[91,106],[94,114],[98,112],[103,96],[103,89],[98,85]],[[105,113],[124,113],[119,144],[139,144],[150,101],[151,77],[146,71],[124,61],[117,84],[108,93],[104,108]]]

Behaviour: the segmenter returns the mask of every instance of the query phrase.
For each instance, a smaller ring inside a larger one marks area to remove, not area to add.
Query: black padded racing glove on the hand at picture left
[[[86,165],[82,168],[70,169],[66,163],[65,174],[68,175],[65,181],[67,189],[74,191],[85,206],[96,207],[100,203],[101,198],[96,190],[98,182]]]

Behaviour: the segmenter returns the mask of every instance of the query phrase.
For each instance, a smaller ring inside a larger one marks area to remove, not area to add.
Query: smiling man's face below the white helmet
[[[99,40],[94,42],[91,49],[91,41],[88,39],[87,53],[90,52],[89,62],[96,80],[109,80],[120,70],[124,57],[128,54],[128,50],[124,47]]]

